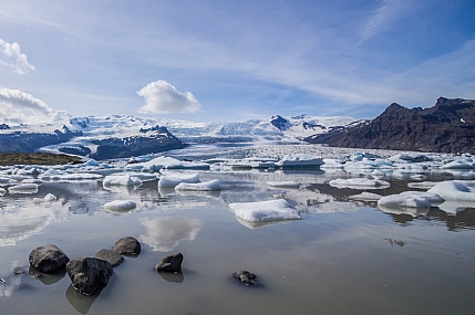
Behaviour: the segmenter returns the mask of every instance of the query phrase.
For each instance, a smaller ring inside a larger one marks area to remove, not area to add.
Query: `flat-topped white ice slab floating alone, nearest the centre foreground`
[[[229,203],[229,208],[236,217],[251,222],[301,219],[299,212],[285,199]]]

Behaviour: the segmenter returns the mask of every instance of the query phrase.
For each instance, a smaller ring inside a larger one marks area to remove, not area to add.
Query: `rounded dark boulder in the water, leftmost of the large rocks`
[[[51,273],[64,267],[70,259],[56,245],[48,244],[32,250],[29,261],[33,269],[43,273]]]

